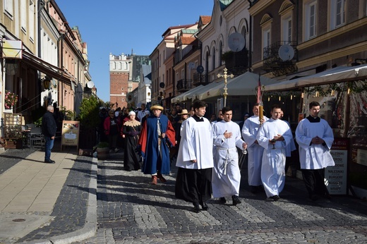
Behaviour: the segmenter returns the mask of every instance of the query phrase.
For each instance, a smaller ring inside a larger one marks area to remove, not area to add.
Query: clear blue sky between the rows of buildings
[[[109,102],[109,53],[150,55],[170,26],[211,16],[213,0],[56,0],[88,44],[97,95]]]

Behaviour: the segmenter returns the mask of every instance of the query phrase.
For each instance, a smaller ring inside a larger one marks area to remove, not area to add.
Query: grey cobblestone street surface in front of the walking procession
[[[83,243],[367,243],[367,205],[352,197],[307,200],[303,181],[287,178],[281,200],[253,195],[242,171],[240,205],[210,200],[208,211],[174,197],[167,183],[150,185],[121,160],[99,161],[97,234]],[[229,200],[229,199],[227,199]]]

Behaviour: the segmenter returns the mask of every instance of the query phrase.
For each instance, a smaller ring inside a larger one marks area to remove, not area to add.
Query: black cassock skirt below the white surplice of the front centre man
[[[175,195],[186,202],[202,203],[212,196],[212,168],[177,171]]]

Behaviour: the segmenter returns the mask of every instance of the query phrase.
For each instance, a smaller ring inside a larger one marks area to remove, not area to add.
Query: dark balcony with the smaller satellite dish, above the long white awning
[[[294,56],[289,60],[281,59],[279,56],[279,48],[284,44],[289,44],[294,50]],[[296,56],[296,42],[275,42],[263,49],[263,70],[271,72],[276,77],[294,73],[297,71]]]

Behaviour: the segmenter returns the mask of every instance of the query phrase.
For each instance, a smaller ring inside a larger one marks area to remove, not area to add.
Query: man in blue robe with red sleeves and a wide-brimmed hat
[[[146,118],[140,133],[139,145],[143,156],[142,171],[152,175],[152,184],[157,185],[157,178],[166,182],[163,174],[171,170],[169,147],[175,145],[172,123],[162,114],[163,107],[151,106],[152,114]]]

